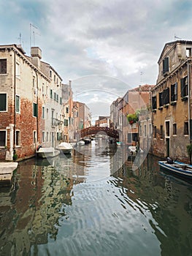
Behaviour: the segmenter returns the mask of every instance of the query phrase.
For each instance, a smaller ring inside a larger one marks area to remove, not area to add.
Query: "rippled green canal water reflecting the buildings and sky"
[[[0,255],[192,255],[192,184],[158,160],[92,142],[20,162],[0,189]]]

